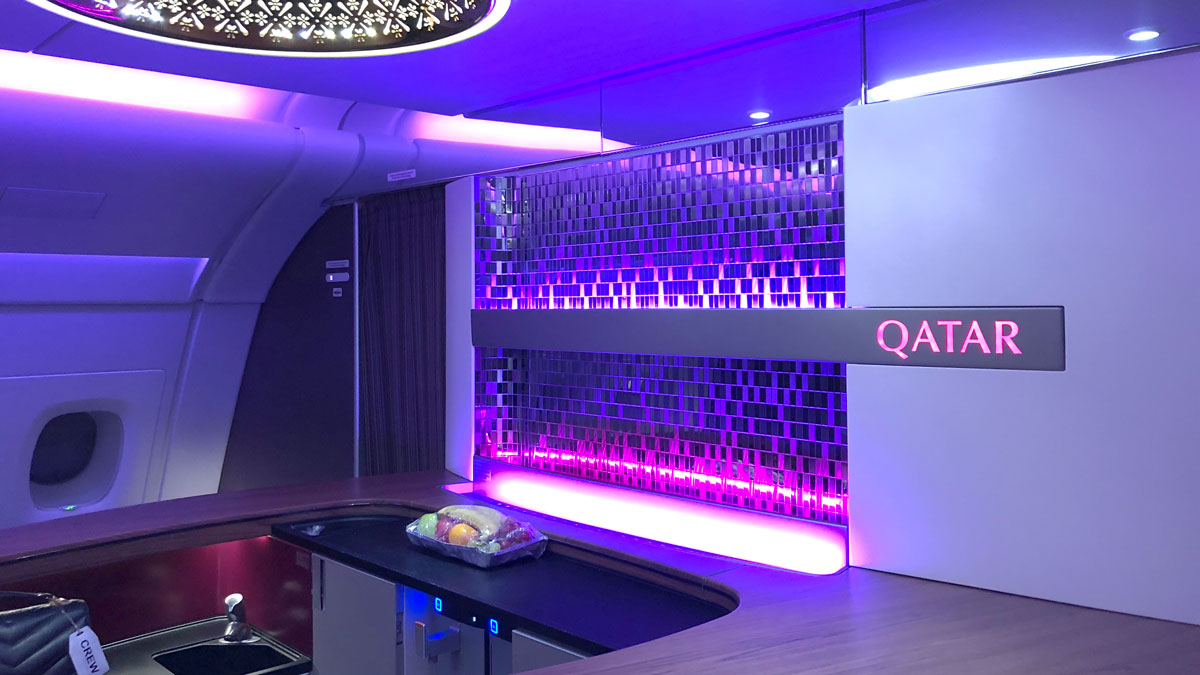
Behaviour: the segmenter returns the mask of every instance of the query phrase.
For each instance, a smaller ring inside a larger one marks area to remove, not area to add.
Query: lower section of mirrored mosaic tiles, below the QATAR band
[[[481,456],[845,522],[845,364],[490,347],[475,359]]]

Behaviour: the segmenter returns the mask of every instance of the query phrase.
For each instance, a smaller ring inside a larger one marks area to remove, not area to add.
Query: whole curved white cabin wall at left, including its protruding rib
[[[328,199],[572,154],[418,148],[406,110],[244,89],[260,119],[0,90],[0,527],[216,491],[259,306]],[[72,412],[120,418],[116,465],[35,506]]]

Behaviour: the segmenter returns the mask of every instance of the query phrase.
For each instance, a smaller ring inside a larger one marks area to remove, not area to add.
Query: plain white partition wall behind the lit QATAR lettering
[[[1200,623],[1200,53],[856,107],[847,305],[1063,305],[1066,372],[850,366],[852,565]]]

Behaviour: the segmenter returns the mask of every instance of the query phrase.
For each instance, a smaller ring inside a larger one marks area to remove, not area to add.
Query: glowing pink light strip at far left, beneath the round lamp
[[[284,91],[0,49],[0,89],[144,108],[259,119]]]

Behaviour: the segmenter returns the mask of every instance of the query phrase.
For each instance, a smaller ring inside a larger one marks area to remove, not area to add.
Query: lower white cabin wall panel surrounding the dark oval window
[[[66,412],[114,412],[126,424],[112,491],[74,513],[143,501],[166,454],[190,317],[181,305],[0,307],[0,527],[66,515],[36,508],[29,485],[42,425]]]

